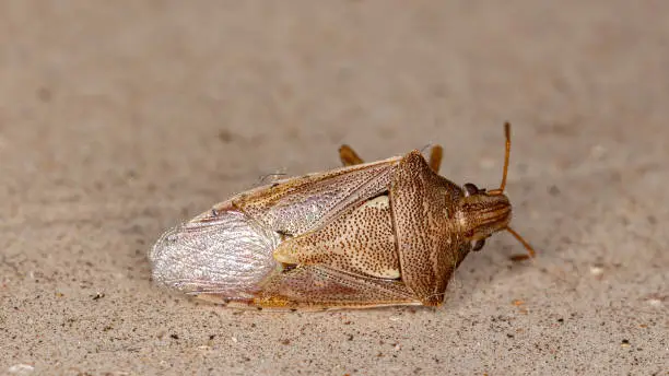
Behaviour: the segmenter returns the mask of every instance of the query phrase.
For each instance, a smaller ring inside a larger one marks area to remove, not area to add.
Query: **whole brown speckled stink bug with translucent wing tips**
[[[274,181],[215,204],[153,246],[153,280],[233,306],[285,309],[436,306],[470,250],[509,226],[504,187],[460,187],[418,151]]]

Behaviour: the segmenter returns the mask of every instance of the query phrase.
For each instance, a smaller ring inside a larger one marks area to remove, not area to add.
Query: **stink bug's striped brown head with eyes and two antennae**
[[[460,200],[456,218],[461,226],[462,234],[471,242],[472,250],[480,250],[485,244],[485,238],[498,231],[510,233],[527,249],[529,257],[535,256],[532,247],[512,227],[512,204],[508,197],[504,195],[506,187],[506,175],[510,155],[510,125],[504,124],[506,138],[504,169],[500,188],[485,190],[478,188],[471,183],[462,186],[465,197]]]

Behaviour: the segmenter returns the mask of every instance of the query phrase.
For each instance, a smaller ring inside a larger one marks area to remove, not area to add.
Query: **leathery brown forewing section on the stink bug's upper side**
[[[265,226],[293,236],[317,228],[360,200],[388,189],[400,157],[285,179],[233,203]]]

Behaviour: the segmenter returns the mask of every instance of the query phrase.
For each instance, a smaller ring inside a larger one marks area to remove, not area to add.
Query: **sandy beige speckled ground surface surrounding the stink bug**
[[[669,2],[0,3],[0,374],[667,375]],[[662,21],[664,20],[664,21]],[[515,228],[443,307],[239,312],[161,232],[272,173],[445,146]]]

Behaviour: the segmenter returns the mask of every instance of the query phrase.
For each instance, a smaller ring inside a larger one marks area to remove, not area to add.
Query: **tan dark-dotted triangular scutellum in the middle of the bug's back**
[[[328,265],[364,275],[399,278],[389,199],[382,196],[350,208],[321,228],[282,243],[274,257],[283,262]]]

